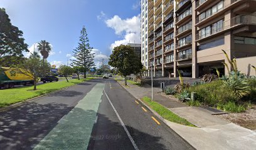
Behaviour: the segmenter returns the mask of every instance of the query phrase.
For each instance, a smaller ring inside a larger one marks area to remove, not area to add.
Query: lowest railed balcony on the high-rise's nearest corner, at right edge
[[[196,41],[205,39],[207,37],[211,37],[216,34],[220,34],[223,31],[227,31],[227,30],[230,30],[236,27],[242,27],[242,26],[252,26],[253,31],[255,31],[256,16],[240,15],[240,16],[233,17],[232,19],[223,22],[223,27],[218,27],[216,29],[213,27],[210,27],[208,31],[196,34]]]

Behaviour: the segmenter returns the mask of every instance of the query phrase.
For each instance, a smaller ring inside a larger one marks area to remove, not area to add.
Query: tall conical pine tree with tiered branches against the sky
[[[73,49],[73,57],[71,66],[78,66],[82,68],[84,73],[84,78],[86,78],[86,73],[90,68],[94,66],[95,54],[92,53],[92,47],[90,47],[88,34],[86,32],[85,26],[83,26],[80,32],[80,39],[78,42],[78,47]]]

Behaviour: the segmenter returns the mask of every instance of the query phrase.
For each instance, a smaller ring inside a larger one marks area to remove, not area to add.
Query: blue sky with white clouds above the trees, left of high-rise
[[[68,60],[83,26],[96,66],[102,59],[107,63],[115,46],[141,43],[140,0],[0,0],[0,8],[5,8],[11,23],[23,31],[30,52],[36,42],[50,42],[48,62],[57,67],[71,63]]]

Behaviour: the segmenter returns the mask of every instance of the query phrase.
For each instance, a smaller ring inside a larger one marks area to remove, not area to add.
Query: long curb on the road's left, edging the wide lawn
[[[82,83],[85,83],[85,82],[87,82],[87,81],[84,81],[84,82],[82,82]],[[81,83],[74,84],[74,85],[72,85],[72,86],[77,86],[77,85],[79,85],[79,84],[81,84]],[[51,94],[58,93],[58,92],[60,92],[60,91],[62,91],[62,90],[64,90],[64,89],[68,89],[68,88],[70,88],[70,87],[72,87],[72,86],[67,86],[67,87],[65,87],[65,88],[61,88],[61,89],[58,89],[58,90],[56,90],[56,91],[52,91],[52,92],[50,92],[50,93],[46,93],[46,94],[43,94],[43,95],[40,95],[40,96],[36,96],[36,97],[34,97],[34,98],[27,99],[27,100],[25,100],[25,101],[21,101],[21,102],[15,103],[15,104],[11,104],[11,105],[6,106],[6,107],[4,107],[4,108],[0,108],[0,113],[1,113],[1,112],[4,112],[4,111],[8,111],[9,109],[17,108],[18,106],[21,106],[21,105],[23,105],[23,104],[25,104],[25,103],[29,103],[29,102],[32,102],[32,101],[36,101],[37,99],[40,99],[40,98],[49,96],[49,95],[51,95]]]

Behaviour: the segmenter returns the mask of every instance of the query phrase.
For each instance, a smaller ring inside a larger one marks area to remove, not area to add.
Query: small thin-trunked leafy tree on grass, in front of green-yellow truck
[[[40,58],[35,57],[35,55],[31,55],[28,59],[25,59],[22,64],[19,64],[18,67],[21,68],[19,69],[20,73],[33,78],[33,89],[36,90],[36,83],[38,83],[40,76],[42,76],[43,69],[50,70],[51,65],[47,62],[43,63]]]

